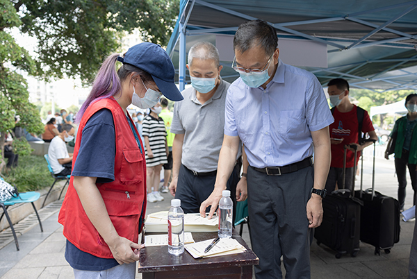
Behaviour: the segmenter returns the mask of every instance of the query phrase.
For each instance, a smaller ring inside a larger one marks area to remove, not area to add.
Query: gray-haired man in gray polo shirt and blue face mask
[[[181,200],[185,213],[197,213],[202,201],[214,189],[224,135],[224,104],[230,83],[220,78],[222,66],[218,50],[209,42],[191,47],[187,68],[193,87],[184,90],[184,100],[174,105],[170,192]],[[235,196],[237,201],[244,201],[247,196],[246,178],[238,183],[239,171],[240,163],[237,163],[227,183],[234,205]]]

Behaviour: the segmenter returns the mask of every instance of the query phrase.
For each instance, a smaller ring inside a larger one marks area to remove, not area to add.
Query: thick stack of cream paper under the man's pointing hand
[[[167,233],[168,232],[168,212],[160,211],[149,214],[145,220],[147,233]],[[199,213],[184,214],[184,230],[186,232],[217,232],[218,217],[212,219],[202,218]]]

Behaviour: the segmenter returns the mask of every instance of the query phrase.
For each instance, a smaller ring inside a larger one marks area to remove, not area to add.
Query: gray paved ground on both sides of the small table
[[[368,151],[371,151],[369,149]],[[378,150],[376,189],[383,194],[396,197],[397,182],[393,160],[386,161],[380,158],[382,149]],[[371,185],[372,162],[366,159],[363,184],[368,187]],[[359,183],[360,180],[357,180],[357,189]],[[163,196],[165,196],[165,201],[148,205],[148,213],[170,208],[170,194],[163,194]],[[56,204],[59,205],[59,202]],[[411,205],[412,190],[409,186],[407,187],[406,208]],[[62,235],[62,226],[57,222],[59,206],[56,208],[56,213],[43,221],[44,233],[40,233],[39,227],[34,226],[19,237],[20,251],[16,251],[14,242],[0,249],[0,277],[2,279],[74,278],[72,269],[65,262],[65,238]],[[357,257],[344,256],[336,259],[333,251],[324,246],[318,246],[314,242],[311,245],[311,278],[407,278],[413,230],[414,221],[407,223],[402,221],[400,242],[395,244],[391,253],[382,253],[380,256],[374,255],[372,246],[361,244],[361,251]],[[0,237],[2,234],[0,233]],[[243,238],[250,243],[247,226],[245,226]],[[136,278],[141,278],[140,274]]]

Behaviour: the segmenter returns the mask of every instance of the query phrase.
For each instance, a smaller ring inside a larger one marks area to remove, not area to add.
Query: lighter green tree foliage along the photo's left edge
[[[28,74],[35,74],[35,62],[28,55],[28,51],[19,47],[13,37],[6,31],[17,27],[22,22],[17,16],[13,3],[0,0],[0,169],[4,165],[3,145],[6,134],[15,128],[15,116],[19,115],[21,121],[18,126],[26,128],[29,133],[39,133],[42,128],[39,112],[35,105],[28,102],[27,84],[17,70]],[[26,140],[15,143],[15,153],[25,154],[31,150]]]

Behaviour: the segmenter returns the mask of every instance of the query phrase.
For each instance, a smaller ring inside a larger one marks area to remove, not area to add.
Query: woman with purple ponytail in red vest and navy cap
[[[115,71],[116,62],[123,63]],[[79,122],[70,187],[58,221],[75,278],[135,278],[138,235],[146,209],[146,164],[126,108],[150,108],[165,95],[183,97],[174,66],[157,44],[109,56],[76,116]]]

